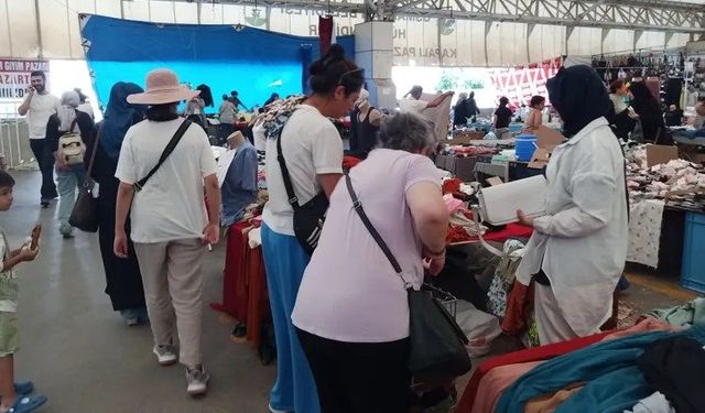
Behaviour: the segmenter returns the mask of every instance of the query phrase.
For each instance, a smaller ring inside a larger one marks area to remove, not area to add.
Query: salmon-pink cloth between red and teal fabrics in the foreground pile
[[[502,392],[512,385],[517,379],[541,365],[543,361],[530,361],[519,365],[496,367],[490,370],[477,388],[477,396],[470,413],[492,413]]]

